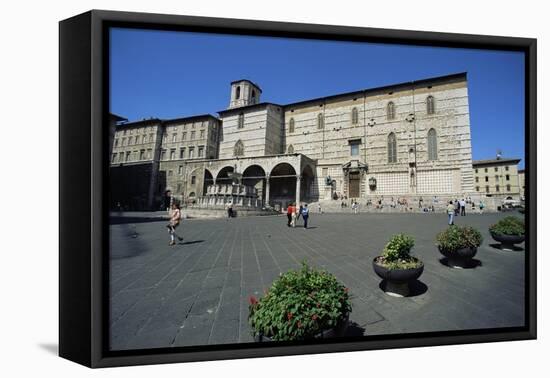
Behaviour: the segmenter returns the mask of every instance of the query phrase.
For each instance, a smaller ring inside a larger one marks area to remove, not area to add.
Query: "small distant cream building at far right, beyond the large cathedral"
[[[474,184],[476,193],[483,195],[519,200],[522,184],[520,182],[518,164],[520,159],[475,160]]]

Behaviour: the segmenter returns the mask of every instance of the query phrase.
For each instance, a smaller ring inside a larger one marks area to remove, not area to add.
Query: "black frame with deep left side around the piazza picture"
[[[108,351],[108,28],[216,32],[525,53],[526,326],[338,339]],[[536,39],[92,10],[59,24],[59,354],[88,367],[535,339]],[[74,204],[80,206],[74,211]]]

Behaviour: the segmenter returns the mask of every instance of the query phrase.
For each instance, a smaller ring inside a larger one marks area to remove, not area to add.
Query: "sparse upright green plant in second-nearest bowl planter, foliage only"
[[[410,255],[414,247],[412,236],[405,234],[394,235],[382,251],[377,260],[386,269],[411,269],[422,265],[422,261]]]

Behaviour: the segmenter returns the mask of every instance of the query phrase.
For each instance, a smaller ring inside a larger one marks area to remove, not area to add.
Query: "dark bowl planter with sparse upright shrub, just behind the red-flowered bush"
[[[409,282],[420,277],[424,264],[411,256],[414,239],[404,234],[394,235],[384,247],[381,256],[372,261],[374,271],[386,280],[384,291],[392,296],[409,295]]]

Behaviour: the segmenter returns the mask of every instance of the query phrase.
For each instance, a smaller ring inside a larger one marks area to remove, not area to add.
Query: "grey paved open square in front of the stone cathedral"
[[[350,288],[349,336],[521,326],[527,251],[491,246],[488,226],[503,216],[457,217],[484,236],[477,267],[463,270],[435,247],[445,214],[312,214],[308,230],[288,228],[286,216],[192,219],[174,247],[164,220],[113,219],[111,348],[251,342],[249,296],[304,259]],[[386,295],[372,268],[397,232],[414,235],[425,264],[408,298]]]

